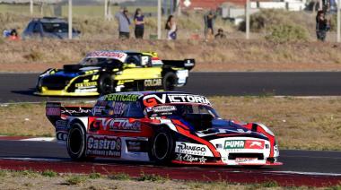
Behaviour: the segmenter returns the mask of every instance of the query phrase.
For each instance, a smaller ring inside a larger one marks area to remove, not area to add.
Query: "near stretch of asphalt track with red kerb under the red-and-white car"
[[[262,182],[275,180],[284,186],[330,186],[341,183],[341,151],[280,151],[283,166],[266,168],[153,166],[131,161],[94,160],[76,163],[57,142],[0,141],[0,168],[38,170],[57,169],[60,172],[101,173],[142,171],[168,174],[179,179]],[[136,173],[137,172],[137,173]],[[193,172],[188,175],[188,172]],[[200,174],[200,175],[198,175]],[[206,175],[206,178],[202,174]],[[182,175],[182,176],[181,176]],[[191,178],[194,177],[194,178]],[[202,178],[203,177],[203,178]],[[207,178],[208,177],[208,178]]]

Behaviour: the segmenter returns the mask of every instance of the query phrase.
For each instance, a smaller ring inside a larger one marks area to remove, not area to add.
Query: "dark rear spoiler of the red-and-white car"
[[[66,119],[66,117],[88,117],[92,112],[92,107],[82,106],[62,106],[60,102],[46,103],[46,117],[56,125],[57,120]]]

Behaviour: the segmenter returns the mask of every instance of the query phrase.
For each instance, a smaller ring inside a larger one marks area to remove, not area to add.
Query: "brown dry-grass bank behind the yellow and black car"
[[[340,71],[341,45],[266,40],[27,40],[0,42],[0,72],[42,72],[77,63],[99,49],[156,51],[162,59],[195,58],[194,71]]]

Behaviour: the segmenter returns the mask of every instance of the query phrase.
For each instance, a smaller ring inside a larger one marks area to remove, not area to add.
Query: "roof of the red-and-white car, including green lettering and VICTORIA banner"
[[[188,103],[211,105],[205,96],[182,91],[131,91],[118,92],[102,96],[99,100],[109,101],[137,101],[142,100],[145,107],[162,104]]]

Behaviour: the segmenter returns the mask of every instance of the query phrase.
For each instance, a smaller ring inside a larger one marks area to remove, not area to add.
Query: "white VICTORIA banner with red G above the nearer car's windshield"
[[[211,105],[208,99],[204,96],[190,95],[190,94],[162,94],[158,96],[151,94],[144,96],[144,106],[153,107],[158,104],[165,103],[200,103]]]

